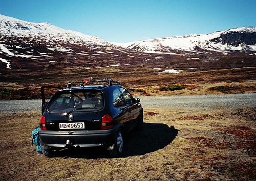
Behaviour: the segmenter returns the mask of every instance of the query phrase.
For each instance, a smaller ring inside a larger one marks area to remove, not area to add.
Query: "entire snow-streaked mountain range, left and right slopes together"
[[[172,54],[255,53],[256,27],[123,44],[64,30],[47,22],[33,23],[0,15],[0,73],[8,69],[91,69],[141,64],[169,59]]]

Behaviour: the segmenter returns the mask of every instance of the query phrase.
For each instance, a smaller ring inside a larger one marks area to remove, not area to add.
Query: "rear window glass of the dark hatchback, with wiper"
[[[75,90],[57,95],[47,111],[70,112],[74,111],[98,111],[103,108],[103,95],[99,91]]]

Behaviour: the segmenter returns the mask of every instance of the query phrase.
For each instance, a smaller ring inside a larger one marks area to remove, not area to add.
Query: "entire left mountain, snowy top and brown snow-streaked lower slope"
[[[154,59],[153,55],[115,46],[105,40],[0,15],[0,69],[102,67]]]

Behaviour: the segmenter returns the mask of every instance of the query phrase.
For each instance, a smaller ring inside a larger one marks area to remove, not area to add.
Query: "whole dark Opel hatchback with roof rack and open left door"
[[[52,157],[54,150],[63,148],[104,146],[111,157],[120,157],[123,134],[143,129],[140,99],[111,79],[91,81],[87,86],[79,82],[80,86],[72,87],[74,83],[55,92],[49,103],[44,93],[47,86],[41,88],[42,153]]]

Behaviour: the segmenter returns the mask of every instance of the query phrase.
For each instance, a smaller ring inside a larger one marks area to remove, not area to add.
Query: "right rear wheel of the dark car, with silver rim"
[[[115,138],[115,146],[113,150],[109,150],[111,157],[120,157],[123,152],[123,134],[121,129],[117,131]]]

